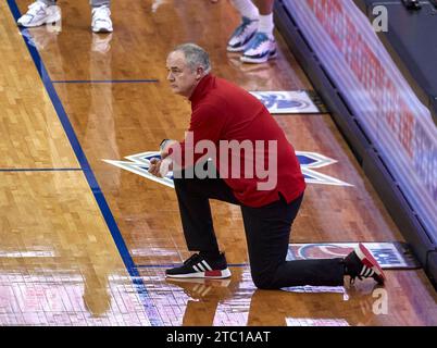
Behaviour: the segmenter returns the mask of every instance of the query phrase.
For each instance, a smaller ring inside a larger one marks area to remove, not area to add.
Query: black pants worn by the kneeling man
[[[218,250],[209,199],[241,207],[253,283],[263,289],[344,284],[342,259],[286,261],[291,224],[302,197],[250,208],[241,204],[221,178],[175,178],[182,224],[188,250]]]

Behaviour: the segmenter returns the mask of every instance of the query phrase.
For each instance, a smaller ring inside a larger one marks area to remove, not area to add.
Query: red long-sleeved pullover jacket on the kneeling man
[[[180,150],[177,146],[172,147],[171,157],[177,164],[183,167],[192,165],[187,161],[190,157],[187,151],[192,153],[192,146],[209,140],[208,144],[213,144],[216,149],[214,160],[221,177],[242,204],[263,207],[277,201],[279,194],[290,202],[304,191],[305,183],[295,149],[269,110],[255,97],[223,78],[208,74],[196,86],[190,101],[192,114],[188,132],[192,141],[186,137],[178,144]],[[232,140],[234,146],[241,148],[245,144],[248,151],[224,151],[227,153],[227,160],[224,161],[220,146],[223,148],[223,145],[227,145],[229,148]],[[251,148],[258,150],[251,151]],[[193,162],[205,152],[195,153]]]

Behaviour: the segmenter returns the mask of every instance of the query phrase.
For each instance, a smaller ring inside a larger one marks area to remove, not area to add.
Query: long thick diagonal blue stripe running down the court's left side
[[[15,0],[8,0],[8,4],[16,21],[21,16],[21,14],[20,14],[20,10],[15,3]],[[21,30],[25,30],[25,29],[21,28]],[[70,123],[68,116],[66,115],[65,110],[62,105],[62,102],[59,99],[59,96],[53,87],[53,84],[51,83],[51,80],[48,77],[45,77],[45,76],[49,76],[47,73],[46,66],[43,65],[42,60],[39,57],[39,53],[36,50],[36,48],[34,46],[29,45],[29,42],[25,36],[23,36],[23,37],[27,45],[27,49],[29,50],[30,55],[35,62],[35,65],[37,66],[37,70],[41,76],[42,83],[51,99],[51,102],[53,103],[53,107],[58,113],[58,117],[61,121],[62,126],[64,127],[65,134],[67,135],[68,140],[76,154],[76,158],[77,158],[78,162],[80,163],[82,169],[84,170],[84,174],[88,181],[88,185],[90,186],[92,194],[95,195],[96,201],[99,204],[100,211],[101,211],[101,213],[107,222],[107,225],[112,234],[112,237],[113,237],[115,245],[118,249],[118,252],[123,259],[123,262],[132,277],[132,282],[133,282],[139,297],[142,300],[142,304],[149,316],[148,319],[152,326],[163,325],[163,322],[161,321],[157,309],[154,308],[153,303],[150,300],[146,286],[139,275],[138,269],[135,265],[129,251],[127,250],[127,247],[123,240],[123,236],[120,233],[118,226],[116,225],[115,219],[112,215],[112,212],[107,203],[107,200],[104,199],[102,191],[100,190],[99,184],[97,183],[97,179],[91,171],[88,160],[80,147],[80,144],[76,137],[76,134],[74,133],[73,126]]]

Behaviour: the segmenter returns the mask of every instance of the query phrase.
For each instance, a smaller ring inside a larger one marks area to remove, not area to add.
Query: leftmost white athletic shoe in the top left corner
[[[24,27],[34,27],[60,20],[61,11],[58,5],[48,5],[42,1],[35,1],[28,7],[28,11],[18,18],[17,24]]]

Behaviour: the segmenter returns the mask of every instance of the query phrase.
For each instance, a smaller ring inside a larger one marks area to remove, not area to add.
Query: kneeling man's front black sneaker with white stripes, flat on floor
[[[165,275],[171,278],[228,278],[230,271],[224,253],[216,260],[207,260],[199,253],[192,254],[182,266],[165,271]]]

